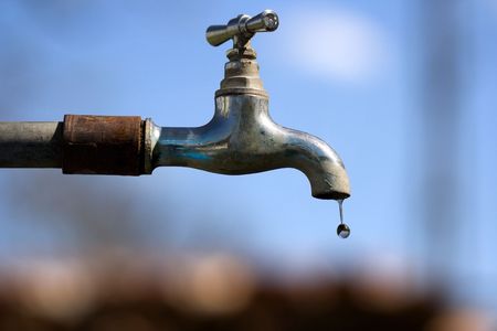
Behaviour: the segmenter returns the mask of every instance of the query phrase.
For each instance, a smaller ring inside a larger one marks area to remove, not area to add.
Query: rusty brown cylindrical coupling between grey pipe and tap
[[[65,115],[62,171],[144,173],[144,121],[139,116]]]

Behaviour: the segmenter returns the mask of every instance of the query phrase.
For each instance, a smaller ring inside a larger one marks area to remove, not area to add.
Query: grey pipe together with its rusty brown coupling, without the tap
[[[66,115],[63,122],[0,122],[0,167],[139,175],[146,170],[145,124],[138,116],[89,115]]]

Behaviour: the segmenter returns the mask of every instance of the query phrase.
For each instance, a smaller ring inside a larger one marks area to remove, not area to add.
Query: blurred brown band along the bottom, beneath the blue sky
[[[487,330],[467,313],[454,324],[434,296],[329,277],[262,282],[228,255],[82,260],[3,273],[0,330]]]

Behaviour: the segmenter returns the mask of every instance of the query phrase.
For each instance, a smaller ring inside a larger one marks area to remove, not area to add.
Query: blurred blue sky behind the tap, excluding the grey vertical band
[[[464,194],[451,269],[442,274],[454,302],[496,311],[497,1],[462,7]],[[431,160],[420,153],[423,38],[415,1],[2,1],[1,120],[140,115],[161,126],[200,126],[213,114],[229,49],[210,46],[207,26],[266,8],[281,26],[253,46],[269,111],[343,159],[352,185],[343,205],[349,239],[336,236],[337,203],[313,199],[295,170],[223,177],[161,168],[140,178],[2,170],[2,260],[71,254],[91,237],[67,221],[80,211],[108,218],[108,233],[127,217],[124,242],[109,235],[94,245],[110,238],[126,246],[129,238],[156,253],[235,252],[285,273],[351,268],[422,278],[424,201],[416,192]],[[95,210],[77,209],[80,191]],[[107,199],[123,207],[107,210]]]

